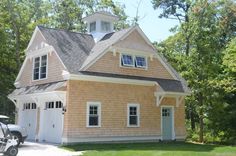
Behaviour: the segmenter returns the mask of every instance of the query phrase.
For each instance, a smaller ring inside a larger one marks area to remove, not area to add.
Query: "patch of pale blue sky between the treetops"
[[[125,13],[128,15],[128,20],[136,16],[136,10],[139,0],[114,0],[121,4],[125,4]],[[169,32],[170,28],[178,25],[177,20],[162,18],[158,15],[161,10],[154,10],[151,0],[142,0],[139,7],[140,21],[139,26],[147,37],[152,41],[160,42],[168,38],[173,33]]]

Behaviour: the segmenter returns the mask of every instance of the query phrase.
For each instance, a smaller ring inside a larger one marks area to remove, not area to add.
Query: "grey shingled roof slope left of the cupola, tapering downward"
[[[93,36],[42,26],[38,28],[47,42],[54,47],[67,70],[76,74],[95,45]]]

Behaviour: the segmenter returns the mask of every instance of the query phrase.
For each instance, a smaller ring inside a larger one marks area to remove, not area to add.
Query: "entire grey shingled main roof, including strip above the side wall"
[[[84,67],[89,65],[94,60],[100,58],[102,54],[105,53],[112,45],[132,32],[132,30],[135,30],[137,26],[108,33],[97,43],[94,42],[93,36],[89,34],[71,32],[61,29],[45,28],[42,26],[38,26],[38,28],[47,40],[48,44],[54,47],[68,72],[71,74],[94,74],[97,76],[100,75],[107,77],[156,81],[165,91],[190,92],[190,89],[187,87],[187,82],[178,74],[178,72],[176,72],[176,70],[167,62],[167,60],[158,53],[157,55],[160,56],[161,60],[178,80],[84,71]]]

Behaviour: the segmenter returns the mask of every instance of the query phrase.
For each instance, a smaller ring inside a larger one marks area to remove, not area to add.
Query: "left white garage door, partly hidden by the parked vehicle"
[[[37,109],[36,103],[24,103],[20,116],[20,125],[27,129],[27,140],[35,140]]]

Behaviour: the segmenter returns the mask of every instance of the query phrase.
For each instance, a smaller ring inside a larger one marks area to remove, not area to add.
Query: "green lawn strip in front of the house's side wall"
[[[76,144],[63,148],[84,151],[83,156],[236,156],[235,146],[193,143]]]

